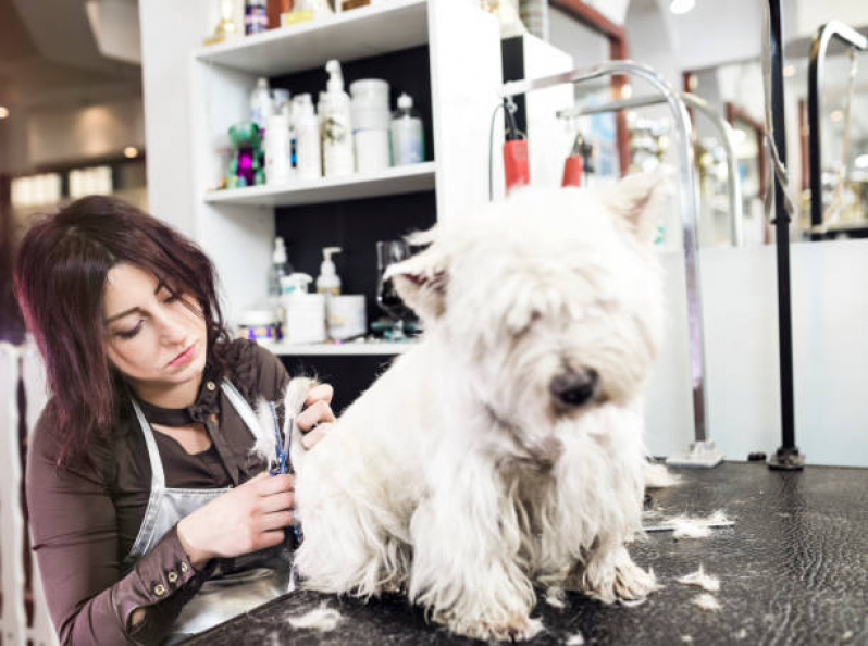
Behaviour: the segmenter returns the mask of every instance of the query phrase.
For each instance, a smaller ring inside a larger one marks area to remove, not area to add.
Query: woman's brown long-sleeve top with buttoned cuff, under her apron
[[[276,357],[253,341],[236,340],[228,358],[225,376],[245,399],[253,403],[259,395],[281,397],[288,375]],[[253,436],[213,370],[206,368],[197,399],[186,409],[140,405],[151,423],[200,422],[211,438],[207,451],[189,455],[172,437],[154,433],[168,487],[237,486],[264,468],[250,456]],[[151,485],[145,438],[129,409],[110,438],[91,439],[91,465],[75,459],[58,465],[51,401],[30,440],[26,493],[34,549],[63,645],[159,644],[215,567],[212,561],[196,571],[173,529],[131,571],[122,571]],[[139,607],[148,609],[146,619],[131,628],[131,616]]]

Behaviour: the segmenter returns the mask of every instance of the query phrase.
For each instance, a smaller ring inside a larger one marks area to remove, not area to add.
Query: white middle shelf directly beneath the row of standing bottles
[[[218,204],[292,207],[419,192],[434,190],[434,162],[424,162],[395,166],[374,174],[357,173],[346,177],[315,179],[287,186],[249,186],[210,190],[206,194],[204,200]]]

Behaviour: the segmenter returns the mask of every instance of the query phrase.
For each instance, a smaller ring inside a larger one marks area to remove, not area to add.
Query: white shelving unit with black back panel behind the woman
[[[389,0],[196,47],[189,55],[194,237],[216,265],[230,323],[265,299],[264,278],[278,228],[292,238],[290,262],[310,272],[319,266],[313,262],[322,246],[344,246],[344,262],[350,263],[354,250],[346,248],[354,240],[356,259],[361,245],[373,256],[372,240],[416,228],[420,212],[446,221],[463,218],[487,201],[488,127],[500,101],[503,75],[498,22],[478,0]],[[221,149],[226,133],[248,117],[257,79],[264,76],[273,87],[286,87],[294,95],[315,92],[325,88],[330,59],[342,62],[347,86],[355,74],[385,78],[395,91],[419,88],[427,117],[427,161],[370,175],[216,190],[225,172]],[[424,197],[425,191],[431,197]],[[405,210],[401,196],[407,199]],[[404,212],[406,225],[400,224]],[[370,306],[375,263],[364,259],[354,269],[345,285],[350,283],[348,291],[352,283],[362,285],[356,290],[368,295]],[[364,281],[359,278],[362,274]],[[369,316],[374,313],[369,307]],[[380,344],[278,346],[276,351],[309,357],[396,353]]]

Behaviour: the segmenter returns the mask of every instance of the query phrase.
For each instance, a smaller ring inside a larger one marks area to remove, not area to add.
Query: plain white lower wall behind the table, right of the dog
[[[796,444],[811,464],[868,467],[868,240],[791,247]],[[669,324],[646,406],[653,455],[693,438],[683,260],[662,257]],[[708,432],[727,458],[781,444],[774,248],[700,252]]]

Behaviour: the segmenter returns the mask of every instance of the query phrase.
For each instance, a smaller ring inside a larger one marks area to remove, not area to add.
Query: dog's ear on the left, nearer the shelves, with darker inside
[[[421,253],[389,266],[385,277],[392,278],[398,296],[417,314],[433,321],[443,315],[446,309],[446,256],[433,245]]]

